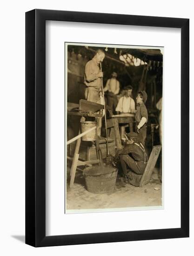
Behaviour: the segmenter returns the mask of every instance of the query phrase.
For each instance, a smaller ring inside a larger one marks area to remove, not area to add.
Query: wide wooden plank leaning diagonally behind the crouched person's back
[[[149,160],[147,162],[147,166],[145,168],[145,171],[140,181],[140,187],[146,185],[150,181],[150,178],[152,176],[152,173],[160,152],[161,152],[161,145],[153,147],[152,152],[149,156]]]

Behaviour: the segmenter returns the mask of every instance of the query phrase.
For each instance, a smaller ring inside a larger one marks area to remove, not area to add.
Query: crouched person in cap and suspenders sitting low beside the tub
[[[138,141],[138,135],[130,132],[127,134],[127,137],[127,145],[116,153],[120,157],[120,164],[125,179],[128,179],[127,174],[129,171],[143,174],[148,161],[146,150],[143,144]]]

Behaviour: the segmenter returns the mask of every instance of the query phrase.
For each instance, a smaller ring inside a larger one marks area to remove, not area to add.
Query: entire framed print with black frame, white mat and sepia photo
[[[26,13],[26,243],[189,236],[189,20]]]

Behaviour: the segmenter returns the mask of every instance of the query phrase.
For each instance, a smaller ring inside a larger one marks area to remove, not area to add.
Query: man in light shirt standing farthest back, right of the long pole
[[[115,108],[118,103],[118,99],[116,95],[119,93],[119,90],[120,90],[120,83],[116,78],[117,78],[117,73],[113,72],[112,78],[107,80],[106,86],[104,88],[104,92],[108,91],[107,105],[111,108],[111,111],[113,113],[115,112]]]

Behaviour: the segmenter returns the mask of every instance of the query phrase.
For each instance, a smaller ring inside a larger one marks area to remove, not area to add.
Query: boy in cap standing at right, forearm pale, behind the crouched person
[[[147,135],[147,108],[145,103],[147,101],[147,93],[145,91],[140,91],[137,94],[137,111],[135,114],[136,121],[136,130],[138,133],[138,141],[140,141],[143,145],[145,145],[146,135]]]

